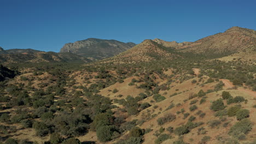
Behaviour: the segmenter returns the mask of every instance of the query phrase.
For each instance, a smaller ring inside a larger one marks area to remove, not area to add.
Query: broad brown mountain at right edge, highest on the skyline
[[[253,29],[232,27],[224,33],[210,35],[189,45],[179,46],[182,52],[227,53],[238,52],[256,45],[256,31]]]

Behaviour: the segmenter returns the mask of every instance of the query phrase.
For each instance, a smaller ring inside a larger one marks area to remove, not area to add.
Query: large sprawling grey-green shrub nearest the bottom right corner
[[[243,118],[241,121],[235,123],[229,130],[229,135],[238,137],[237,134],[247,134],[252,130],[252,122],[248,118]]]

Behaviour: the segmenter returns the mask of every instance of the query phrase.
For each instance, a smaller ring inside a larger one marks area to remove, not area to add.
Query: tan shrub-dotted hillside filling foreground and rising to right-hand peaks
[[[0,82],[0,143],[253,144],[255,47],[218,45],[254,31],[225,33],[200,44],[147,39],[90,63],[71,63],[84,58],[71,52],[0,55],[19,71]]]

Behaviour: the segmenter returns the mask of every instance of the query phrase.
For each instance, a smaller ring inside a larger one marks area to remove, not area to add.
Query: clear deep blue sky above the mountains
[[[87,38],[195,41],[232,26],[255,30],[255,6],[255,0],[0,0],[0,46],[59,52]]]

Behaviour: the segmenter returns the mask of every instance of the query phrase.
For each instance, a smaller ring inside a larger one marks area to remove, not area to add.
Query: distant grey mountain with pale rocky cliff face
[[[117,40],[89,38],[65,44],[60,53],[70,52],[92,60],[103,59],[118,55],[135,46],[134,43],[123,43]]]

